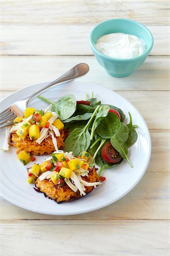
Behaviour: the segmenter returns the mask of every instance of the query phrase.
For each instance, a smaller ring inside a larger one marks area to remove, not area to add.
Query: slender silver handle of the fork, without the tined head
[[[49,89],[51,86],[55,84],[58,85],[63,82],[69,82],[79,77],[82,77],[86,75],[88,71],[89,71],[89,67],[86,63],[79,63],[75,65],[75,67],[71,68],[69,71],[67,71],[65,74],[60,76],[58,79],[54,80],[53,82],[50,82],[50,84],[45,85],[42,89],[38,90],[38,92],[32,94],[32,96],[27,99],[26,107],[30,101],[32,101],[35,97],[39,96],[42,92],[45,92],[45,90]]]

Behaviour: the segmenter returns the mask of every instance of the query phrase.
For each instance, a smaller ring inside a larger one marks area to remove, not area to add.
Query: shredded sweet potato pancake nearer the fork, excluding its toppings
[[[66,138],[65,132],[61,130],[60,136],[55,138],[57,138],[58,149],[63,150],[64,140]],[[21,139],[20,137],[18,137],[18,135],[16,135],[16,133],[12,133],[11,141],[13,142],[12,145],[18,148],[16,150],[16,154],[24,150],[25,152],[31,153],[32,155],[44,155],[50,154],[51,152],[56,150],[51,136],[44,139],[44,141],[38,144],[36,141],[31,140],[29,136],[25,137],[25,139]]]

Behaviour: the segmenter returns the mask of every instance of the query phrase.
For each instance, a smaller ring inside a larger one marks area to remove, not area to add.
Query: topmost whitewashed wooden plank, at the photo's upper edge
[[[146,25],[167,25],[168,1],[1,1],[2,23],[70,24],[99,23],[130,18]]]

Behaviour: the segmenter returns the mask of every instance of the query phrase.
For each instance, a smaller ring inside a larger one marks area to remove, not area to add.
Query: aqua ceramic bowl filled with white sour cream
[[[90,46],[97,61],[114,77],[129,76],[139,68],[153,44],[151,32],[131,19],[106,20],[90,35]]]

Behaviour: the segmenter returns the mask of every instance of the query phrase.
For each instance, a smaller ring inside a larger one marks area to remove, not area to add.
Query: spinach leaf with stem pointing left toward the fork
[[[56,112],[58,114],[58,118],[61,121],[71,117],[71,115],[73,115],[73,113],[75,112],[76,100],[73,94],[63,96],[59,98],[59,100],[56,102],[49,101],[42,96],[38,97],[41,98],[41,100],[52,104],[51,111]]]

